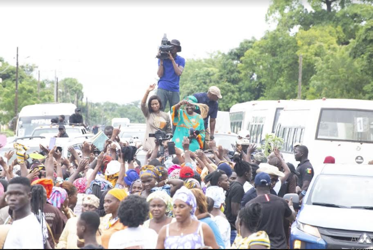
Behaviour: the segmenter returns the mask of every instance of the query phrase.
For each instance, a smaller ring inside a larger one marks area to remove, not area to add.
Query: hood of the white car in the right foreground
[[[316,227],[370,232],[373,210],[303,205],[297,220]]]

